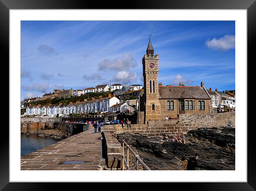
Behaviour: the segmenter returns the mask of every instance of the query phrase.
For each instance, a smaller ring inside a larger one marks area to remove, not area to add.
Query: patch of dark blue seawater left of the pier
[[[51,138],[21,134],[21,156],[42,149],[56,142],[58,141]]]

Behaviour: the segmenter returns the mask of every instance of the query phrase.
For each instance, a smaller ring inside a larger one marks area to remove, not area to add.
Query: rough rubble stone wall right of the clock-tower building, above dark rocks
[[[196,123],[199,127],[235,127],[235,112],[180,114],[179,121]]]

